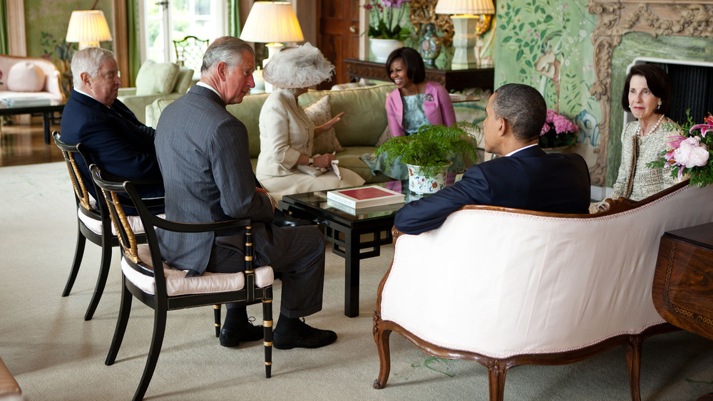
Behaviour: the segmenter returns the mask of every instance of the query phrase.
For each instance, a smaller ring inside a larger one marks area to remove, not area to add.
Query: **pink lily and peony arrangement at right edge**
[[[678,179],[688,175],[691,185],[713,184],[713,115],[704,118],[703,124],[694,124],[689,116],[683,129],[685,136],[668,137],[669,149],[658,160],[647,163],[647,167],[670,168],[671,175]]]

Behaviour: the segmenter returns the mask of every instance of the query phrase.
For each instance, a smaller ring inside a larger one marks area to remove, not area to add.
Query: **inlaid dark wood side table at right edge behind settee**
[[[665,321],[713,340],[713,223],[664,233],[652,299]]]

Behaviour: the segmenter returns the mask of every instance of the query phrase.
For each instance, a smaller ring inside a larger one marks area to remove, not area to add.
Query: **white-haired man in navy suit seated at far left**
[[[62,112],[61,138],[82,143],[103,172],[134,181],[161,181],[153,145],[155,130],[136,119],[116,100],[121,78],[113,53],[103,48],[85,48],[72,58],[74,88]],[[78,157],[86,182],[91,175]],[[93,186],[89,192],[96,197]],[[163,196],[162,184],[140,187],[144,196]]]

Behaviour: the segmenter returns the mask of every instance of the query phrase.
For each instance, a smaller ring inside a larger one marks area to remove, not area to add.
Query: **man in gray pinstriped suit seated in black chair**
[[[255,53],[232,36],[217,38],[203,56],[200,82],[168,105],[156,127],[156,154],[165,186],[166,218],[206,223],[250,217],[258,266],[270,265],[282,280],[275,327],[278,349],[319,348],[337,340],[331,330],[300,318],[322,309],[324,238],[314,226],[275,226],[275,204],[252,172],[245,125],[225,110],[255,87]],[[168,264],[190,270],[242,271],[243,235],[227,232],[158,233]],[[262,338],[243,305],[228,305],[220,344]]]

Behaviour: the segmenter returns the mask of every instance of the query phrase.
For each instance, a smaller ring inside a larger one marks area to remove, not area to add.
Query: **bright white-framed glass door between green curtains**
[[[213,39],[227,34],[227,1],[139,0],[141,61],[175,63],[174,40]]]

